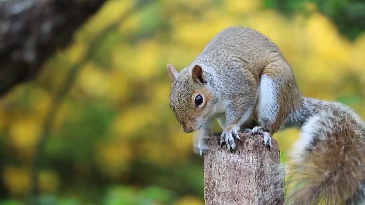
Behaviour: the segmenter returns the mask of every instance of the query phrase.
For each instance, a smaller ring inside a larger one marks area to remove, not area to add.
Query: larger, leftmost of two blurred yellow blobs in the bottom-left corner
[[[30,172],[26,168],[5,167],[3,180],[13,196],[24,196],[30,190]]]

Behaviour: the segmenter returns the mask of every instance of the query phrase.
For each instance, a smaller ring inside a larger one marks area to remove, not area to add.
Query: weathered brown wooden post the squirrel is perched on
[[[236,142],[236,152],[219,146],[220,133],[214,133],[204,156],[205,205],[266,205],[283,204],[283,184],[277,179],[280,151],[276,140],[269,151],[260,135],[240,133],[242,143]],[[276,181],[276,182],[274,182]],[[269,201],[264,193],[276,190]],[[277,190],[279,190],[277,192]]]

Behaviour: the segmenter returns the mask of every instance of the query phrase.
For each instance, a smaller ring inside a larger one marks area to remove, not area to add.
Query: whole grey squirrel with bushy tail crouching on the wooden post
[[[350,108],[303,97],[291,67],[266,36],[245,27],[220,31],[172,81],[169,105],[185,133],[195,132],[195,152],[204,155],[215,119],[220,146],[235,151],[238,132],[271,136],[300,129],[289,169],[297,177],[286,204],[365,203],[365,123]]]

